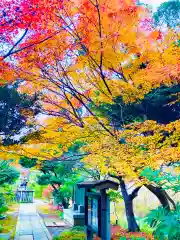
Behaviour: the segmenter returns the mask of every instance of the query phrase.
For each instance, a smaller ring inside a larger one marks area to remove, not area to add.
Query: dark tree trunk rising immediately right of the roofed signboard
[[[139,232],[139,226],[136,222],[135,216],[134,216],[134,210],[133,210],[133,197],[132,195],[129,195],[126,190],[125,182],[121,179],[120,180],[120,188],[122,192],[122,196],[124,199],[125,204],[125,211],[126,211],[126,217],[127,217],[127,223],[128,223],[128,231],[129,232]]]

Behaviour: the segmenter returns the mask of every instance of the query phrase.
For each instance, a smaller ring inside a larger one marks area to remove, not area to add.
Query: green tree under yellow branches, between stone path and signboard
[[[72,144],[58,159],[43,160],[38,163],[37,158],[21,157],[19,163],[25,168],[37,167],[40,171],[37,183],[41,186],[51,186],[55,202],[68,208],[73,196],[73,188],[82,178],[75,169],[82,158],[79,152],[82,145],[83,143],[79,141]],[[78,154],[79,156],[76,157]]]

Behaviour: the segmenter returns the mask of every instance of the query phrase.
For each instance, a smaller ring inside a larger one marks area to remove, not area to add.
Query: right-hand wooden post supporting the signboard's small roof
[[[103,189],[101,193],[101,240],[111,239],[111,226],[110,226],[110,202]]]

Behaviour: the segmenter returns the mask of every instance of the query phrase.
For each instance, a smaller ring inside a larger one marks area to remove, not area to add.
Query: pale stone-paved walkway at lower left
[[[14,240],[51,240],[51,236],[33,203],[23,203],[19,208]]]

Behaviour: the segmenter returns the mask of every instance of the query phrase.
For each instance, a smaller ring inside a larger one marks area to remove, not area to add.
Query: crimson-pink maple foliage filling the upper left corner
[[[5,59],[26,48],[39,44],[56,34],[51,27],[52,12],[61,7],[62,1],[21,0],[0,4],[1,58]],[[46,16],[43,14],[46,12]],[[39,34],[37,30],[39,29]],[[27,42],[28,39],[28,42]]]

